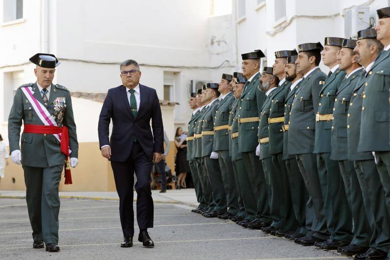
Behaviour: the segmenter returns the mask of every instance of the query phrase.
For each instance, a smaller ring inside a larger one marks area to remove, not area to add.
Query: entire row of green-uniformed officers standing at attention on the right
[[[193,212],[389,259],[390,7],[377,14],[357,40],[277,51],[262,72],[262,51],[245,53],[242,73],[191,93]]]

